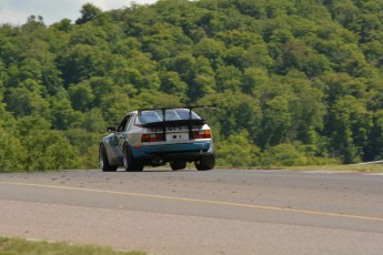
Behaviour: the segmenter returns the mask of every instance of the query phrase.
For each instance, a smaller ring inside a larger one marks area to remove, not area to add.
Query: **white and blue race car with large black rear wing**
[[[194,162],[196,170],[214,169],[215,154],[210,126],[193,109],[214,105],[141,109],[127,114],[120,125],[108,128],[101,139],[100,169],[104,172],[142,171],[145,165],[170,163],[172,170]]]

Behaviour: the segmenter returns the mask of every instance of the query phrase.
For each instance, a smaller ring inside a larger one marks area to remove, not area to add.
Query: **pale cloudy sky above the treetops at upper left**
[[[70,19],[74,22],[80,18],[81,7],[93,3],[102,11],[129,7],[132,2],[150,4],[157,0],[0,0],[0,24],[21,26],[30,16],[41,16],[46,24]]]

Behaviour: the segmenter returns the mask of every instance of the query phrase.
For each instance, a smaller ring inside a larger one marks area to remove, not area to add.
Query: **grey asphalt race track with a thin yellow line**
[[[148,254],[383,254],[383,175],[261,170],[0,174],[0,236]]]

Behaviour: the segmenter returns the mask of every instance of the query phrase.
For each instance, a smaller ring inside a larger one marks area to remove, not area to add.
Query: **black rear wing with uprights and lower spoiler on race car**
[[[188,125],[189,128],[189,137],[192,139],[193,134],[193,125],[203,125],[205,124],[205,121],[203,119],[201,120],[193,120],[192,119],[192,110],[193,109],[206,109],[206,108],[213,108],[216,110],[216,104],[211,105],[188,105],[188,106],[178,106],[178,108],[157,108],[157,109],[140,109],[138,112],[141,114],[144,111],[162,111],[163,120],[161,122],[152,122],[147,124],[140,124],[142,128],[158,128],[162,126],[163,136],[167,139],[167,126],[172,125]],[[189,109],[189,119],[188,120],[177,120],[177,121],[167,121],[165,111],[167,110],[175,110],[175,109]]]

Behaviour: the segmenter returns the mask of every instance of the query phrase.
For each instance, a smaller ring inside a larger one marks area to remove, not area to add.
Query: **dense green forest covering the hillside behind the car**
[[[382,0],[159,0],[0,24],[0,172],[98,166],[140,108],[200,112],[222,166],[383,157]]]

